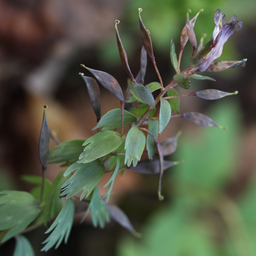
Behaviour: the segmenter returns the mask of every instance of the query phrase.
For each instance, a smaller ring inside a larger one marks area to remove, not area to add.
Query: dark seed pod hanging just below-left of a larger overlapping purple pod
[[[79,73],[84,79],[84,82],[87,86],[89,98],[92,104],[93,111],[99,120],[101,117],[101,108],[100,108],[100,88],[96,80],[89,76],[84,76],[83,73]]]

